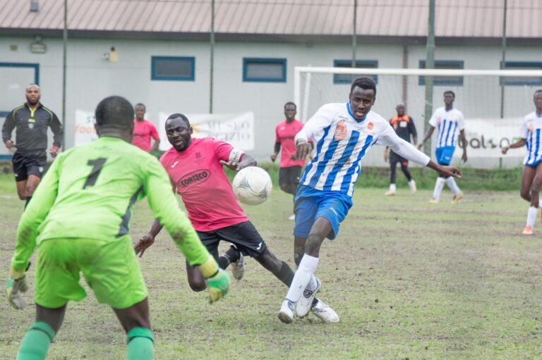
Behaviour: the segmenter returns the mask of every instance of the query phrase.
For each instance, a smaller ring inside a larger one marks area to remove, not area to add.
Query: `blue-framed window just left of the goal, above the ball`
[[[286,59],[243,58],[243,81],[286,82]]]

